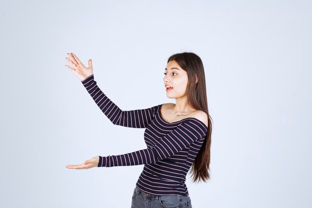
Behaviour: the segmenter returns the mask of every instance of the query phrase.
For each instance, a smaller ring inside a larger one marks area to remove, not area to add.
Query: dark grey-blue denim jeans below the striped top
[[[189,196],[157,196],[135,188],[131,208],[192,208]]]

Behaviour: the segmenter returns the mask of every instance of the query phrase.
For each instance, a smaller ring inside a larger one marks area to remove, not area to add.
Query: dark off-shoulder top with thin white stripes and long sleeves
[[[188,196],[186,174],[205,140],[206,125],[196,118],[168,123],[160,115],[163,104],[123,111],[100,90],[93,74],[81,82],[113,124],[146,128],[144,140],[147,149],[123,155],[99,156],[98,167],[144,164],[136,184],[138,189],[154,195]]]

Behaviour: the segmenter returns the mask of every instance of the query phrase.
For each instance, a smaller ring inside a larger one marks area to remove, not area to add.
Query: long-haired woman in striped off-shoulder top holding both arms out
[[[102,112],[115,125],[146,128],[147,149],[124,155],[97,156],[68,169],[143,165],[132,196],[132,208],[191,208],[185,185],[191,168],[193,182],[210,179],[211,117],[208,113],[204,67],[194,53],[173,54],[167,61],[164,88],[176,103],[122,111],[97,86],[92,60],[86,68],[77,56],[65,65],[80,79]],[[208,131],[209,130],[209,131]]]

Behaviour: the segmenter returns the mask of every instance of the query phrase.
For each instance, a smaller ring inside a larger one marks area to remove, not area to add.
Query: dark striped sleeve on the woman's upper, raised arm
[[[123,111],[113,103],[98,87],[94,74],[81,81],[95,103],[115,125],[131,128],[147,128],[153,120],[159,105],[151,108]]]

